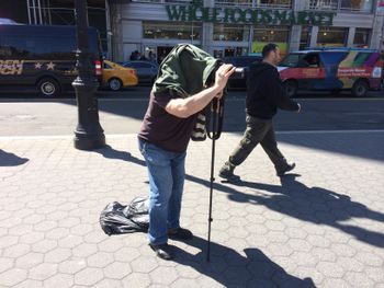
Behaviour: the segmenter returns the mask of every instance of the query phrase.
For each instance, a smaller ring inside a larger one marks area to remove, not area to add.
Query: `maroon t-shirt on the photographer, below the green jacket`
[[[166,106],[171,99],[169,92],[150,93],[148,110],[144,116],[138,137],[171,152],[184,152],[191,139],[197,114],[179,118],[169,114]]]

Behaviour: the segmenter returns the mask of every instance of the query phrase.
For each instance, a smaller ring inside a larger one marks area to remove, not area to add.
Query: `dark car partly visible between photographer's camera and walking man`
[[[262,57],[258,55],[252,56],[234,56],[234,57],[225,57],[223,58],[223,61],[226,64],[231,64],[237,68],[244,68],[244,77],[230,77],[228,80],[228,87],[229,88],[240,88],[246,89],[247,88],[247,78],[248,78],[248,71],[249,66],[253,62],[261,61]]]

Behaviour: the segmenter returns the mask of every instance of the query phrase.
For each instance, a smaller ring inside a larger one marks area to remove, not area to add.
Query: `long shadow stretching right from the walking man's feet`
[[[352,218],[384,222],[384,214],[373,211],[360,203],[352,201],[347,195],[321,187],[307,187],[296,181],[297,176],[297,174],[287,174],[281,178],[281,186],[252,182],[233,184],[269,193],[266,195],[262,193],[259,195],[244,194],[223,185],[216,185],[216,188],[228,193],[228,198],[231,200],[263,205],[271,210],[289,215],[298,220],[337,228],[362,242],[384,247],[383,233],[341,223]]]

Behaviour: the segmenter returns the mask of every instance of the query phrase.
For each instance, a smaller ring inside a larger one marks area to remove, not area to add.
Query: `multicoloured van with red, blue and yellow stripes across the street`
[[[338,93],[350,90],[353,96],[365,96],[380,90],[383,60],[380,53],[363,48],[313,48],[290,53],[278,67],[289,96],[300,90]]]

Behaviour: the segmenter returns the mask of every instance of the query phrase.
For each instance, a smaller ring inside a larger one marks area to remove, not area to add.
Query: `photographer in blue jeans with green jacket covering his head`
[[[173,48],[160,65],[138,134],[150,186],[148,240],[156,255],[163,260],[172,258],[168,238],[193,237],[190,230],[180,227],[185,151],[192,131],[199,126],[197,114],[214,97],[222,97],[235,70],[231,65],[218,64],[193,45]]]

